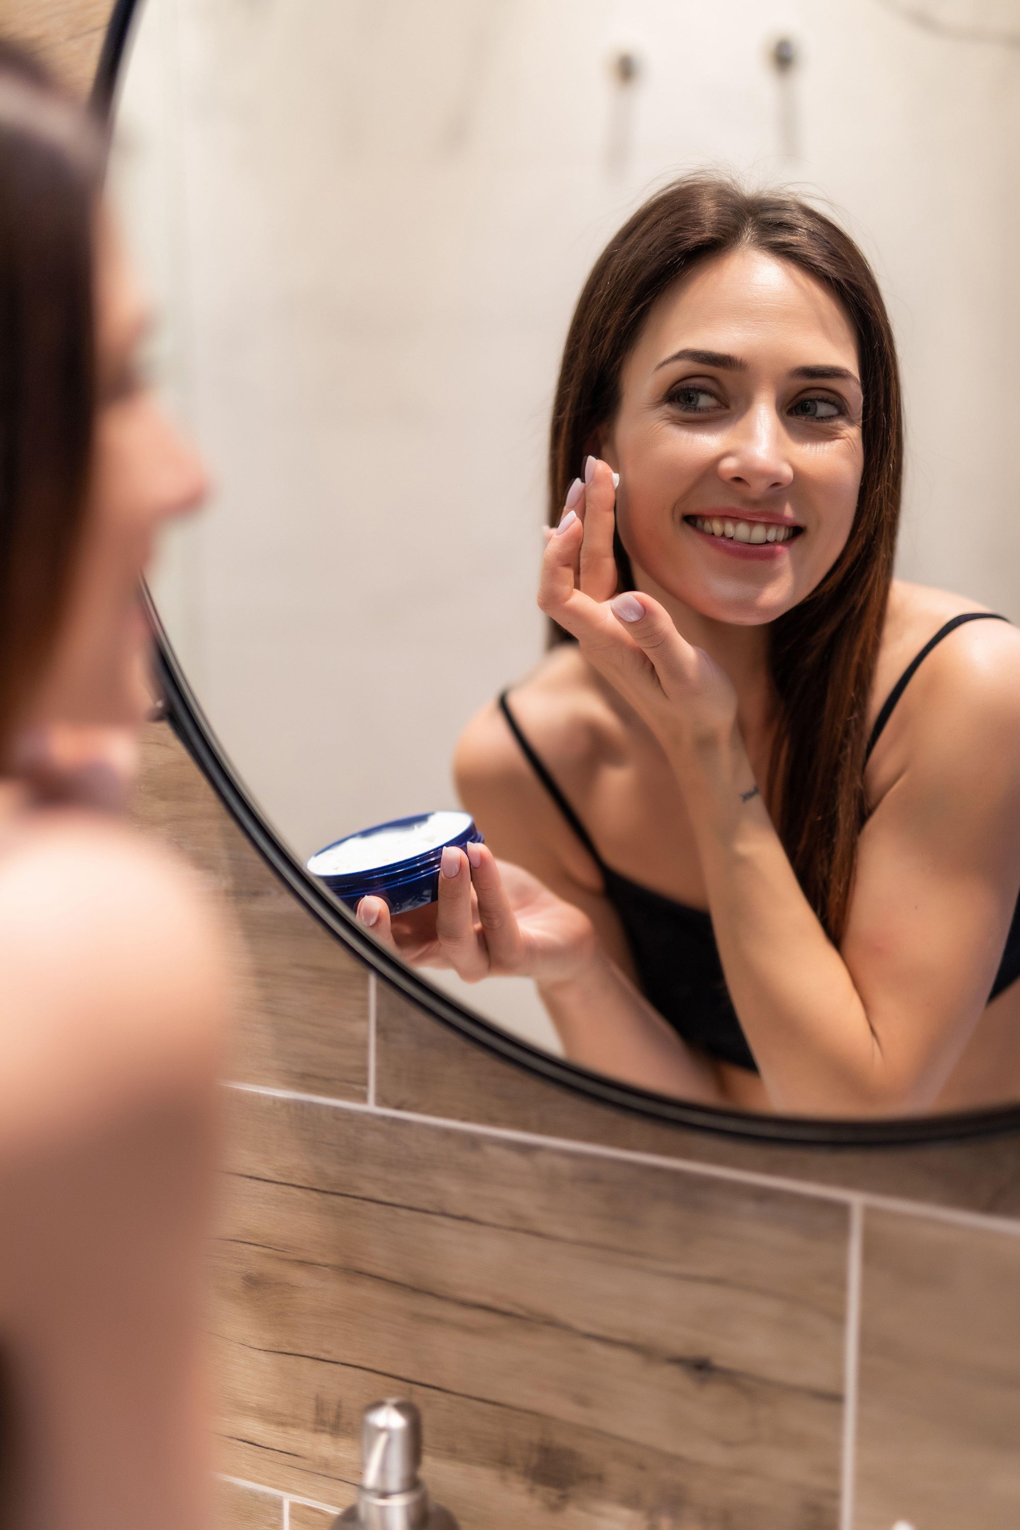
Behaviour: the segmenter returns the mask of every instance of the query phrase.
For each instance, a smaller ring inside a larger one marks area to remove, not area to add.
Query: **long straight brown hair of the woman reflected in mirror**
[[[549,523],[619,404],[619,376],[651,306],[694,265],[762,249],[821,282],[856,335],[864,390],[864,471],[847,545],[800,604],[771,623],[780,701],[768,800],[800,884],[838,941],[867,805],[867,704],[893,575],[902,485],[902,404],[892,326],[875,275],[832,219],[781,193],[687,176],[610,240],[578,300],[563,352],[549,441]],[[616,560],[632,583],[625,551]],[[557,630],[552,641],[566,633]]]

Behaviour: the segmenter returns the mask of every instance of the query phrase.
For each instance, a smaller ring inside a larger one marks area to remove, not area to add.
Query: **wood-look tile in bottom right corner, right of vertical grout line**
[[[1020,1524],[1020,1236],[870,1212],[855,1530]]]

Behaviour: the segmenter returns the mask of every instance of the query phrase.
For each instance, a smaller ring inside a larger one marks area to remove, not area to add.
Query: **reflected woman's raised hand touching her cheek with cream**
[[[613,473],[593,457],[573,505],[547,534],[538,604],[648,724],[667,753],[731,741],[737,693],[728,675],[687,643],[651,595],[616,595]]]

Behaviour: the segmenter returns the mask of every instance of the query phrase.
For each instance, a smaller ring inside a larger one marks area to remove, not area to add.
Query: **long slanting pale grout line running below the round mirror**
[[[336,1100],[329,1094],[304,1094],[300,1089],[277,1089],[266,1083],[234,1083],[225,1080],[225,1088],[240,1094],[260,1094],[271,1100],[291,1100],[297,1105],[321,1105],[350,1115],[376,1115],[384,1120],[411,1121],[416,1126],[434,1126],[439,1131],[469,1132],[476,1137],[492,1137],[499,1141],[523,1143],[529,1148],[554,1148],[561,1152],[583,1154],[590,1158],[645,1164],[653,1169],[670,1169],[673,1174],[694,1174],[710,1180],[726,1180],[731,1184],[749,1184],[765,1190],[786,1190],[815,1201],[832,1201],[838,1206],[869,1206],[882,1212],[899,1212],[904,1216],[924,1216],[931,1221],[953,1222],[982,1232],[1006,1233],[1020,1238],[1020,1219],[994,1216],[986,1212],[965,1212],[928,1201],[907,1201],[893,1195],[875,1195],[869,1190],[844,1190],[840,1186],[818,1184],[810,1180],[794,1180],[778,1174],[762,1174],[755,1169],[729,1169],[725,1164],[699,1163],[694,1158],[670,1158],[664,1154],[641,1152],[636,1148],[609,1148],[603,1143],[578,1141],[573,1137],[551,1137],[544,1132],[523,1132],[509,1126],[485,1126],[480,1121],[457,1121],[445,1115],[425,1115],[421,1111],[398,1111],[387,1105],[362,1105],[358,1100]],[[882,1149],[887,1151],[887,1149]]]

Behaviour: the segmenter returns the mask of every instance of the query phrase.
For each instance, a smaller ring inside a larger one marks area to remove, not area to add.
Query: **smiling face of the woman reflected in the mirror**
[[[850,534],[861,402],[850,321],[798,266],[739,249],[665,292],[601,453],[639,584],[740,626],[801,601]]]

